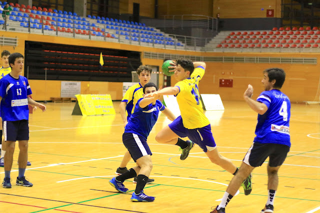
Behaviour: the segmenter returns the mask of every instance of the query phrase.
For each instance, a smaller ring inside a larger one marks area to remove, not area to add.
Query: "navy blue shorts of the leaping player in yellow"
[[[201,128],[187,129],[183,126],[182,118],[179,116],[168,126],[180,138],[188,137],[192,142],[197,144],[203,152],[212,151],[216,148],[210,124]]]

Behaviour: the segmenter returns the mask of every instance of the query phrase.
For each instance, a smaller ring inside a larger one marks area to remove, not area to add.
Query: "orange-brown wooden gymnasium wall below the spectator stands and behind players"
[[[141,61],[144,65],[154,65],[161,67],[162,59],[148,59],[143,57],[143,51],[170,53],[180,55],[197,55],[197,56],[262,56],[262,57],[316,57],[320,61],[317,53],[206,53],[191,51],[175,51],[166,49],[156,49],[151,47],[134,46],[129,44],[111,43],[103,41],[72,39],[64,37],[55,37],[47,35],[37,35],[17,32],[2,32],[6,37],[18,37],[18,46],[13,47],[1,46],[0,51],[4,49],[10,52],[20,52],[24,54],[24,41],[43,41],[59,44],[93,46],[116,48],[123,50],[134,50],[141,53]],[[98,63],[98,61],[97,61]],[[207,68],[204,78],[199,84],[200,93],[220,94],[222,100],[242,100],[243,92],[248,84],[254,88],[254,96],[263,90],[260,83],[262,71],[270,67],[283,68],[287,74],[283,86],[285,92],[292,102],[314,101],[317,96],[320,78],[320,65],[308,64],[267,64],[267,63],[222,63],[207,62]],[[26,71],[26,70],[24,70]],[[232,88],[219,87],[219,79],[233,79]],[[171,85],[176,83],[174,77],[171,77]],[[29,80],[35,100],[49,100],[50,97],[60,96],[60,81]],[[88,86],[89,85],[89,86]],[[163,75],[159,74],[159,86],[163,85]],[[112,100],[121,100],[122,83],[118,82],[81,82],[82,94],[110,94]]]

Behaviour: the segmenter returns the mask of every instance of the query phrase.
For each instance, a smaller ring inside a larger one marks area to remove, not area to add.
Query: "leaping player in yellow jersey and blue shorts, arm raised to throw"
[[[198,84],[204,75],[205,63],[179,59],[176,63],[170,64],[172,66],[168,68],[173,68],[172,72],[174,72],[174,77],[178,82],[174,87],[166,87],[162,90],[146,94],[144,97],[157,97],[159,95],[176,96],[181,116],[164,127],[156,135],[155,140],[158,143],[179,146],[183,143],[180,138],[188,137],[192,141],[191,148],[193,147],[193,143],[197,144],[212,163],[235,175],[238,168],[229,159],[218,153],[211,133],[210,122],[203,113]],[[242,184],[245,195],[250,194],[251,186],[250,175]]]

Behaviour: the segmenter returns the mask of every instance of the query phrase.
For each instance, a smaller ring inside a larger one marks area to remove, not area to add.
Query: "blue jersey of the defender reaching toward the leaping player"
[[[140,135],[146,140],[158,119],[159,112],[163,111],[165,107],[161,101],[156,100],[155,105],[149,104],[142,109],[139,107],[142,99],[140,98],[135,104],[134,112],[130,116],[127,125],[125,125],[124,132]]]

